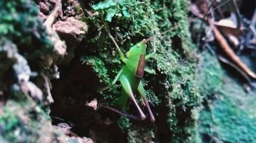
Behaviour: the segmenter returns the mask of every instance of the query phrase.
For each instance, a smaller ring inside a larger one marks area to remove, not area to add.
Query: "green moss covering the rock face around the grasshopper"
[[[187,2],[103,1],[93,8],[99,14],[83,18],[89,23],[90,29],[85,43],[88,45],[88,52],[80,56],[83,62],[90,63],[98,75],[100,87],[108,85],[123,65],[106,30],[110,30],[125,53],[143,38],[153,36],[154,31],[163,32],[178,25],[173,31],[158,37],[158,53],[147,62],[147,67],[156,70],[156,74],[145,73],[143,81],[151,103],[159,109],[168,107],[168,118],[164,122],[169,126],[166,131],[166,134],[171,134],[169,141],[193,141],[196,132],[191,109],[202,101],[202,97],[194,84],[197,59],[186,26]],[[127,8],[125,12],[124,8]],[[148,53],[152,52],[152,44],[148,44],[147,49]],[[120,85],[102,94],[100,101],[117,107],[119,87]],[[158,111],[155,110],[156,115]],[[184,118],[184,123],[181,117]],[[119,126],[126,128],[123,124]]]

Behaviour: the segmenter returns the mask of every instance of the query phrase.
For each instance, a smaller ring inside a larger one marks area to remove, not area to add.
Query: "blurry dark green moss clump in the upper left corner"
[[[38,8],[33,1],[0,2],[0,37],[16,44],[26,60],[33,63],[32,69],[42,68],[39,62],[45,53],[53,50],[45,28],[38,17]],[[26,20],[26,21],[25,21]]]

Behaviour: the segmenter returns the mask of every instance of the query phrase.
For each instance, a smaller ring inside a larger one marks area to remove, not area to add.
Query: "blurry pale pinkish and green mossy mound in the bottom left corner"
[[[0,117],[0,133],[5,141],[37,142],[46,139],[48,142],[49,139],[54,138],[54,140],[63,142],[63,134],[53,129],[49,116],[36,105],[36,102],[30,97],[27,97],[26,100],[23,99],[23,104],[20,102],[8,100],[4,107],[4,113]],[[44,127],[47,127],[47,131]]]

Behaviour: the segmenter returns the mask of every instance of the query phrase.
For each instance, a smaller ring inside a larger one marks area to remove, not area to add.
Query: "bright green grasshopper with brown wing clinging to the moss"
[[[102,93],[102,91],[111,88],[119,79],[122,85],[122,90],[121,90],[121,97],[120,97],[120,102],[121,102],[121,109],[126,109],[127,104],[129,103],[128,101],[132,101],[139,113],[139,116],[131,115],[127,112],[124,112],[122,110],[109,107],[103,104],[100,104],[98,106],[98,109],[100,107],[105,107],[108,109],[111,109],[115,112],[120,113],[121,115],[124,115],[126,117],[132,118],[134,120],[144,120],[146,119],[146,116],[142,109],[140,108],[138,102],[135,99],[134,93],[138,91],[140,96],[142,97],[147,111],[150,115],[150,121],[153,123],[155,121],[155,117],[151,111],[150,105],[148,104],[145,90],[143,88],[143,84],[141,82],[141,78],[144,74],[144,71],[149,72],[149,73],[155,73],[154,70],[146,69],[145,68],[145,60],[150,59],[153,57],[153,55],[156,53],[156,36],[144,39],[135,46],[133,46],[126,54],[127,58],[125,58],[123,52],[120,50],[119,46],[115,42],[114,38],[112,35],[109,33],[109,37],[111,40],[114,42],[115,46],[118,49],[120,59],[125,63],[125,65],[121,68],[121,70],[118,72],[114,80],[110,85],[108,85],[105,88],[102,88],[99,92]],[[154,51],[148,55],[146,54],[146,43],[154,38]],[[130,99],[130,100],[129,100]]]

